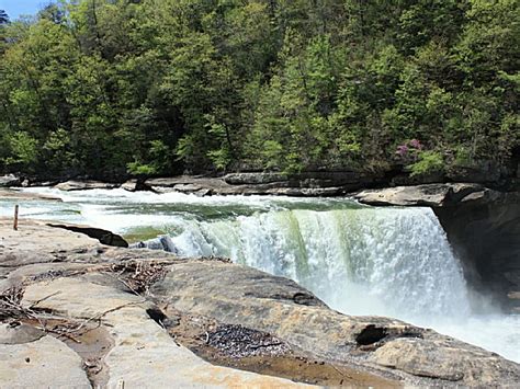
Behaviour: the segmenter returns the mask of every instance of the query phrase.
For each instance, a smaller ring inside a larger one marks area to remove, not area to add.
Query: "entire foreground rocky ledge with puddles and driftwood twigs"
[[[0,220],[0,387],[515,387],[520,365],[223,259]]]

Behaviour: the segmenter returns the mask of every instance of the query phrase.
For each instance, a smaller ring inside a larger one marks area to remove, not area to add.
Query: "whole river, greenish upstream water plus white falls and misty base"
[[[341,312],[395,317],[520,362],[520,316],[498,312],[466,285],[430,208],[346,198],[24,191],[63,202],[19,201],[22,218],[87,224],[129,241],[168,236],[180,255],[231,258],[293,278]],[[12,199],[0,198],[0,216],[12,209]]]

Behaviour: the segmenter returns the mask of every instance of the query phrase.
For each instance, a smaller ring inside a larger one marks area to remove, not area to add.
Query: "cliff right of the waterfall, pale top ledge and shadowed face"
[[[366,190],[354,196],[380,206],[432,207],[462,260],[466,279],[520,312],[520,193],[476,184]]]

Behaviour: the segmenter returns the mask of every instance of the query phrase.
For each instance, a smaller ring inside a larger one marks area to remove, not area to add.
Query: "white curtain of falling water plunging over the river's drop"
[[[459,261],[430,208],[270,210],[184,219],[171,242],[185,256],[228,256],[307,287],[352,314],[414,319],[470,312]]]

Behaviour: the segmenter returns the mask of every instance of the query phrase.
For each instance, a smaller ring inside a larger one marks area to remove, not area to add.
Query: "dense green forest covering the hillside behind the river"
[[[0,170],[411,176],[520,149],[518,0],[75,0],[0,11]],[[517,156],[517,157],[516,157]]]

